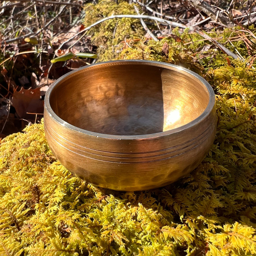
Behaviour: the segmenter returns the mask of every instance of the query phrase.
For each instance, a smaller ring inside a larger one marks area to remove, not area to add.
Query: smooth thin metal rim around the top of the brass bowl
[[[115,135],[115,134],[104,134],[104,133],[99,133],[99,132],[92,132],[92,131],[88,131],[88,130],[84,130],[81,129],[79,127],[76,127],[72,124],[69,124],[68,122],[64,121],[63,119],[61,119],[52,109],[51,105],[50,105],[50,95],[52,90],[54,89],[54,87],[61,82],[63,79],[65,79],[67,76],[70,76],[76,72],[79,72],[85,68],[90,68],[92,66],[99,66],[99,65],[104,65],[104,64],[108,64],[108,63],[118,63],[118,62],[131,62],[131,63],[136,63],[136,64],[151,64],[151,65],[155,65],[155,66],[161,66],[161,67],[166,67],[167,69],[170,69],[170,67],[174,70],[177,71],[182,71],[183,73],[187,73],[190,76],[194,76],[194,78],[196,78],[197,80],[199,80],[199,82],[201,82],[202,84],[204,84],[205,88],[207,89],[207,92],[209,93],[209,102],[207,107],[204,109],[203,113],[196,117],[194,120],[190,121],[187,124],[184,124],[182,126],[179,126],[177,128],[168,130],[168,131],[164,131],[164,132],[156,132],[156,133],[149,133],[149,134],[142,134],[142,135]],[[169,68],[168,68],[169,67]],[[203,121],[204,118],[206,118],[212,111],[212,109],[215,106],[215,93],[212,89],[212,86],[202,77],[199,76],[198,74],[196,74],[195,72],[187,69],[187,68],[183,68],[181,66],[178,65],[173,65],[170,63],[166,63],[166,62],[161,62],[161,61],[154,61],[154,60],[110,60],[110,61],[104,61],[104,62],[99,62],[99,63],[94,63],[88,66],[84,66],[81,68],[77,68],[76,70],[72,70],[70,72],[68,72],[67,74],[61,76],[60,78],[58,78],[54,83],[52,83],[52,85],[49,87],[49,89],[47,90],[46,94],[45,94],[45,99],[44,99],[44,111],[47,111],[49,113],[49,115],[55,119],[56,122],[58,122],[60,125],[70,129],[70,130],[75,130],[76,132],[79,133],[83,133],[85,135],[89,135],[89,136],[95,136],[98,138],[103,138],[103,139],[112,139],[112,140],[121,140],[121,139],[125,139],[125,140],[141,140],[141,139],[150,139],[150,138],[155,138],[155,137],[159,137],[159,136],[166,136],[166,135],[171,135],[177,132],[181,132],[184,131],[200,122]]]

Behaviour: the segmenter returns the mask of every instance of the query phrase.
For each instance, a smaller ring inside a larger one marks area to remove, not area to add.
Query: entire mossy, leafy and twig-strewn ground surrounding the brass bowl
[[[0,139],[0,255],[256,255],[255,4],[1,1],[0,135],[13,134]],[[212,148],[171,185],[94,186],[60,164],[38,123],[56,79],[116,59],[180,65],[215,92]]]

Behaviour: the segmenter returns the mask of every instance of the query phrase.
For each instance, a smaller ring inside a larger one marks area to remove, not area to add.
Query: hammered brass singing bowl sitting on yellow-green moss
[[[47,91],[45,136],[69,171],[103,188],[170,184],[202,162],[216,133],[215,96],[196,73],[156,61],[86,66]]]

